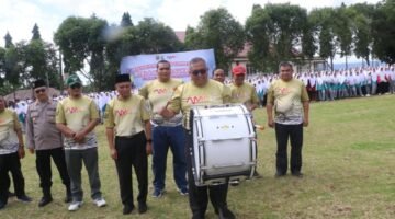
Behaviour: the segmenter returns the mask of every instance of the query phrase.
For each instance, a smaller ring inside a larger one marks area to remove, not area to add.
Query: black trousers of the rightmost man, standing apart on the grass
[[[275,124],[275,138],[278,142],[276,171],[285,174],[287,170],[286,146],[291,140],[291,173],[301,172],[302,169],[302,145],[303,145],[303,124],[282,125]]]

